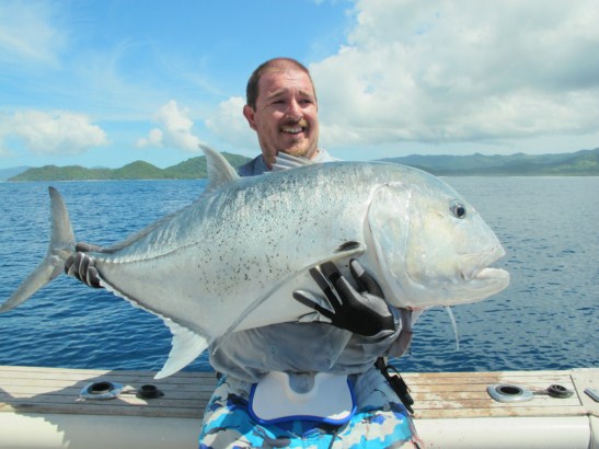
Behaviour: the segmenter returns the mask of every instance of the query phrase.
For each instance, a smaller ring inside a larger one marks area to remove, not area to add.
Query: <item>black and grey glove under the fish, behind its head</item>
[[[395,332],[395,320],[380,286],[358,261],[349,262],[349,270],[360,291],[341,275],[335,264],[326,262],[310,269],[325,298],[296,290],[293,298],[331,320],[331,324],[358,335],[383,337]]]

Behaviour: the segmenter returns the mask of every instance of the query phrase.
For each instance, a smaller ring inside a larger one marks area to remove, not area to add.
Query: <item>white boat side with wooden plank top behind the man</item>
[[[197,448],[214,373],[181,372],[160,382],[153,372],[0,366],[0,448]],[[403,373],[415,399],[415,425],[427,448],[599,449],[599,368],[566,371]],[[118,382],[112,400],[82,400],[90,382]],[[140,399],[152,383],[164,395]],[[498,403],[488,384],[517,384],[531,401]],[[542,394],[561,384],[566,399]]]

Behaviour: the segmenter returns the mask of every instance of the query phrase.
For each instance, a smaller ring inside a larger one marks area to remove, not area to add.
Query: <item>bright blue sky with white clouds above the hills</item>
[[[596,0],[0,0],[0,169],[254,156],[247,77],[290,56],[350,160],[599,147]]]

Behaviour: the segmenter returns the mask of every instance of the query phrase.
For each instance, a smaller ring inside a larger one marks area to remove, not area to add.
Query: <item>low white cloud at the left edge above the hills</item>
[[[3,117],[0,147],[8,151],[9,139],[23,141],[35,154],[80,154],[106,145],[106,133],[83,114],[70,112],[20,111]]]

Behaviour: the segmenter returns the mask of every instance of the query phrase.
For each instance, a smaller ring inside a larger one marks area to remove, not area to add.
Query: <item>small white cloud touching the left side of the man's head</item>
[[[218,105],[216,113],[206,120],[206,127],[234,147],[255,146],[256,134],[242,114],[245,100],[231,96]]]

